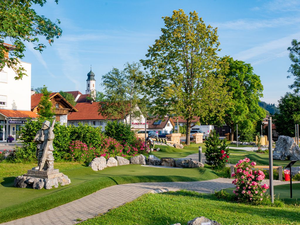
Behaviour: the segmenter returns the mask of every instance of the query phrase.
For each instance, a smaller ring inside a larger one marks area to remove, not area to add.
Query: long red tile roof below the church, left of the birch
[[[76,104],[78,112],[68,114],[68,120],[106,120],[106,116],[99,115],[99,102],[81,102]],[[117,119],[117,118],[110,118]]]

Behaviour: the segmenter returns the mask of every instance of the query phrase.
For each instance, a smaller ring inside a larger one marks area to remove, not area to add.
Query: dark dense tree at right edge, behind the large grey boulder
[[[300,95],[287,92],[278,100],[280,113],[273,117],[279,135],[295,136],[295,124],[300,123]]]

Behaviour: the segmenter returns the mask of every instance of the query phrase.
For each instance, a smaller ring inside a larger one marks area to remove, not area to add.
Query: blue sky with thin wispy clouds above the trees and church
[[[62,37],[42,54],[27,44],[23,61],[32,63],[32,86],[85,93],[92,65],[97,90],[101,75],[128,61],[145,58],[160,35],[162,16],[195,10],[206,25],[218,28],[220,56],[250,63],[264,86],[262,101],[277,104],[293,78],[287,47],[300,38],[300,1],[96,1],[48,0],[35,10],[61,20]]]

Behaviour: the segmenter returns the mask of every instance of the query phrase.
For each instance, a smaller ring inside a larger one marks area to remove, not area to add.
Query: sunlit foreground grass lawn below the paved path
[[[146,194],[133,202],[96,218],[86,224],[166,225],[187,224],[204,216],[220,224],[300,224],[299,206],[253,206],[218,200],[211,194],[191,191]]]

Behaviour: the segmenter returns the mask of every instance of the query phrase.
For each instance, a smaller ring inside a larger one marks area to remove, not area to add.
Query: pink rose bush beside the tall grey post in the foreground
[[[256,162],[251,162],[249,158],[238,161],[236,164],[236,173],[232,173],[234,180],[232,183],[236,186],[233,191],[240,202],[258,202],[262,201],[268,185],[260,185],[265,178],[261,170],[251,170]]]

